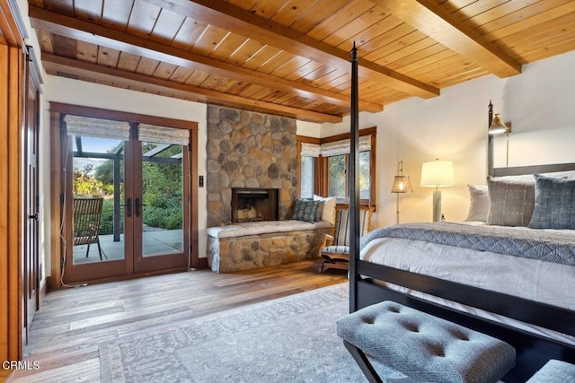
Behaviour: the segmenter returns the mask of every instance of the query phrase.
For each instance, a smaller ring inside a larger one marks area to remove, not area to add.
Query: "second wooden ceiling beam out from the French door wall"
[[[148,57],[210,74],[218,74],[278,91],[295,93],[297,96],[306,99],[349,108],[349,97],[333,91],[326,91],[305,83],[297,83],[271,74],[264,74],[252,69],[228,64],[215,58],[204,57],[180,48],[173,48],[150,39],[143,39],[119,30],[112,30],[102,25],[79,21],[39,7],[30,6],[29,15],[32,27],[48,30],[51,33],[70,39],[78,39],[137,56]],[[359,100],[359,109],[379,112],[384,107],[376,102]]]

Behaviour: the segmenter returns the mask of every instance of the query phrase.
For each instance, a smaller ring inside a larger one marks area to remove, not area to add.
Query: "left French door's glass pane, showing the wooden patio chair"
[[[74,265],[125,258],[124,141],[73,136]]]

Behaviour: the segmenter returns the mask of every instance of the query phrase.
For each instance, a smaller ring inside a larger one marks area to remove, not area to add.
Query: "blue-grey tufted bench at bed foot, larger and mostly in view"
[[[381,379],[366,354],[418,381],[496,382],[515,365],[509,344],[392,301],[340,318],[337,332],[370,381]]]

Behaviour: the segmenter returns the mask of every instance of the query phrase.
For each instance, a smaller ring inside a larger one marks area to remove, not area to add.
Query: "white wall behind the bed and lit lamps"
[[[485,185],[487,106],[511,121],[509,165],[575,161],[575,52],[523,66],[506,79],[487,76],[361,113],[359,127],[377,126],[377,211],[374,227],[395,222],[390,193],[397,162],[411,176],[413,194],[400,196],[401,222],[431,221],[432,188],[420,187],[421,163],[454,161],[456,185],[444,187],[447,221],[462,221],[469,208],[467,184]],[[349,132],[349,118],[323,124],[322,137]],[[495,166],[505,166],[505,136],[495,137]]]

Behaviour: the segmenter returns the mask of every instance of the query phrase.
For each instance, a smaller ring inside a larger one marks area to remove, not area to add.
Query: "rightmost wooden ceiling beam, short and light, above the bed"
[[[371,0],[457,54],[498,77],[521,73],[521,64],[479,32],[447,13],[437,0]]]

